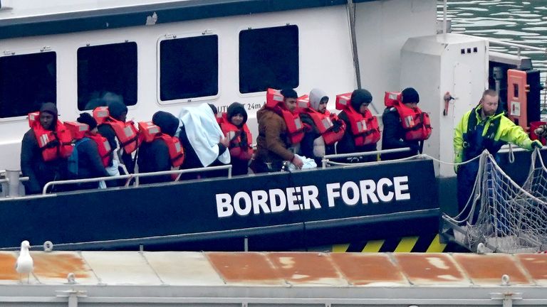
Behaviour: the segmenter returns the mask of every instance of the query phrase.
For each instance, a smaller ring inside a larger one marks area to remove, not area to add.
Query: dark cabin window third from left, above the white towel
[[[160,42],[160,99],[207,97],[219,92],[219,36]]]

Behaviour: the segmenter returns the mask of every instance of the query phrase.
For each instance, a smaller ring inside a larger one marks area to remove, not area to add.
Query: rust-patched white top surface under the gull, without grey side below
[[[16,285],[17,252],[0,252],[0,284]],[[547,286],[547,254],[318,252],[33,252],[30,284],[96,286]]]

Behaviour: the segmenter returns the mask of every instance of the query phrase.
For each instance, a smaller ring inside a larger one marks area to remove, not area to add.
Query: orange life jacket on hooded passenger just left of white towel
[[[152,122],[139,122],[139,139],[147,143],[156,139],[162,139],[167,145],[171,165],[179,167],[184,162],[184,148],[180,144],[179,138],[162,133],[160,126]]]

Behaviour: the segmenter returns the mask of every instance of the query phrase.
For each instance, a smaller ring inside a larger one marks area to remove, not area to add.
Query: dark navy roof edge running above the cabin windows
[[[368,1],[374,0],[354,0],[356,3]],[[157,16],[155,23],[172,23],[346,3],[347,0],[184,0],[24,17],[8,15],[9,9],[4,8],[0,11],[0,39],[145,26],[153,14]]]

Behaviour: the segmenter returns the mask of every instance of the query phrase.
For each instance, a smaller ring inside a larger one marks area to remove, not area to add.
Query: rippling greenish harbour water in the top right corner
[[[443,17],[442,1],[438,16]],[[543,51],[521,50],[521,55],[532,59],[533,68],[541,72],[541,82],[547,83],[547,0],[451,0],[447,4],[447,18],[452,21],[453,33],[543,48]],[[491,50],[518,53],[516,48],[498,45],[491,45]],[[544,90],[543,113],[546,95]]]

